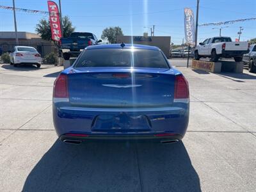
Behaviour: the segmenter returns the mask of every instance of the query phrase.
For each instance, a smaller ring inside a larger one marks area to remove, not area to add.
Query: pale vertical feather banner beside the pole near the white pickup
[[[194,13],[190,8],[184,8],[184,24],[186,44],[195,45],[195,20]]]

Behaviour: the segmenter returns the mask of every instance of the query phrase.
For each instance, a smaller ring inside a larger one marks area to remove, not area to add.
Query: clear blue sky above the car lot
[[[57,0],[55,0],[58,2]],[[47,0],[15,0],[17,8],[47,11]],[[0,5],[12,6],[12,0],[0,0]],[[124,35],[143,35],[152,25],[155,35],[172,36],[174,44],[184,38],[184,8],[196,13],[196,0],[61,0],[62,14],[68,15],[76,31],[90,31],[100,37],[109,26],[120,26]],[[256,17],[255,0],[200,0],[199,24]],[[38,20],[47,15],[17,12],[19,31],[35,32]],[[222,36],[237,38],[243,26],[241,40],[256,37],[256,20],[237,22],[223,29]],[[218,26],[198,28],[198,41],[218,36]],[[13,31],[13,12],[0,9],[0,31]]]

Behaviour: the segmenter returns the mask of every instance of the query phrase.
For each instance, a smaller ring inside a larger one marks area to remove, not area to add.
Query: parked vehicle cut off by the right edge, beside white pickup
[[[243,55],[243,62],[248,65],[249,72],[256,72],[256,44],[250,45],[249,50]]]

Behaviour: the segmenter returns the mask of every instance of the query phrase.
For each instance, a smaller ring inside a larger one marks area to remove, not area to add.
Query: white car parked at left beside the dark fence
[[[36,65],[37,68],[41,67],[42,58],[38,51],[34,47],[15,46],[10,53],[11,65],[17,67],[17,65]]]

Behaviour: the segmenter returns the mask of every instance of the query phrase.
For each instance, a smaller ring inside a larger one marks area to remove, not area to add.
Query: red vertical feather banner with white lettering
[[[50,16],[52,40],[59,42],[61,38],[60,14],[58,5],[53,1],[47,1]]]

